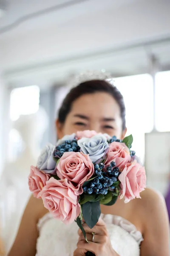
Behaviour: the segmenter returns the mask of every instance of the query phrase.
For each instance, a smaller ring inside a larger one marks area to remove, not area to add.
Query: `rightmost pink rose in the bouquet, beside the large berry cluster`
[[[120,198],[125,198],[125,203],[131,199],[141,198],[140,192],[146,187],[145,169],[134,160],[124,166],[122,173],[119,175],[121,194]]]

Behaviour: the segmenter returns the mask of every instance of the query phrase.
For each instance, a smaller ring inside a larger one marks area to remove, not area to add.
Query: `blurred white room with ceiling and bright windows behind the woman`
[[[8,209],[14,214],[23,200],[23,180],[40,148],[57,140],[54,121],[66,82],[85,70],[111,73],[147,185],[167,195],[170,1],[0,0],[1,198],[8,187],[8,204],[0,201],[3,227]]]

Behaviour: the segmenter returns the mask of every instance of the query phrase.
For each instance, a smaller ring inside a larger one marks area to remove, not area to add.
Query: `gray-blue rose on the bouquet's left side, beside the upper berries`
[[[53,159],[54,149],[55,146],[49,143],[42,149],[40,157],[38,157],[37,168],[45,173],[53,174],[56,167],[56,162]]]

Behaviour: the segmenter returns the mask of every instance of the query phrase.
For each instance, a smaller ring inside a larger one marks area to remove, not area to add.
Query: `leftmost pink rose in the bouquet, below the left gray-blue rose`
[[[46,181],[49,180],[48,174],[40,171],[37,167],[31,166],[30,175],[28,176],[29,190],[33,192],[34,197],[40,198],[40,191],[46,185]]]

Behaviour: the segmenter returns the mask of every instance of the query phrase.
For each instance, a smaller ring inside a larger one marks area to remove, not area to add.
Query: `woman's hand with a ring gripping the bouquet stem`
[[[83,227],[89,243],[85,241],[83,233],[79,229],[79,241],[77,243],[77,250],[75,250],[74,256],[85,256],[87,251],[94,253],[96,256],[119,256],[111,246],[108,231],[105,226],[105,222],[102,219],[99,219],[92,229],[88,227],[87,224],[83,224]]]

